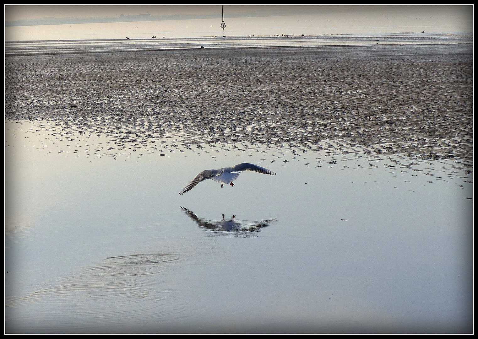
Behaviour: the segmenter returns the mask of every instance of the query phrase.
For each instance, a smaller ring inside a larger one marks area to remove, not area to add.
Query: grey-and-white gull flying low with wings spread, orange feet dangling
[[[236,166],[224,167],[219,170],[203,170],[201,173],[196,175],[196,177],[193,180],[191,180],[183,189],[183,191],[179,192],[179,194],[186,193],[187,191],[191,190],[194,186],[196,186],[198,183],[206,179],[212,179],[216,182],[220,182],[221,188],[224,186],[223,184],[229,184],[231,186],[234,186],[232,181],[238,179],[239,173],[237,172],[242,172],[243,170],[251,170],[254,172],[275,175],[275,173],[272,172],[272,170],[268,170],[261,166],[243,162]]]

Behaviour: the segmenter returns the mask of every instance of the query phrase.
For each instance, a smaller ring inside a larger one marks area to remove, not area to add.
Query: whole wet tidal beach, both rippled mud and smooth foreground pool
[[[7,333],[469,333],[472,69],[472,44],[7,56]],[[241,162],[277,176],[179,195]]]

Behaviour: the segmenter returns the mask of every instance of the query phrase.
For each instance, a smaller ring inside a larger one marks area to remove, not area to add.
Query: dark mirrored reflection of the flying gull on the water
[[[240,231],[240,232],[257,232],[262,228],[269,226],[272,222],[276,222],[277,219],[262,220],[259,222],[250,222],[244,223],[236,220],[236,217],[233,215],[229,219],[224,218],[222,215],[222,220],[204,220],[199,218],[194,212],[191,212],[184,207],[181,207],[181,210],[186,212],[188,217],[193,219],[196,223],[199,224],[202,228],[207,231]]]

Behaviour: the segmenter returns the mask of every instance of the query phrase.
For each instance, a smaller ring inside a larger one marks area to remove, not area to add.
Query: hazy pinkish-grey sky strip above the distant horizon
[[[224,17],[254,17],[279,15],[307,15],[307,14],[337,14],[368,12],[370,19],[380,15],[404,16],[430,15],[443,16],[448,14],[450,20],[461,16],[471,23],[472,6],[297,6],[297,5],[224,5]],[[41,18],[111,18],[121,14],[138,15],[150,14],[153,16],[190,16],[190,19],[206,16],[221,16],[220,5],[192,6],[192,5],[6,5],[6,21],[33,20]],[[166,18],[165,18],[166,19]],[[187,19],[183,17],[183,19]]]

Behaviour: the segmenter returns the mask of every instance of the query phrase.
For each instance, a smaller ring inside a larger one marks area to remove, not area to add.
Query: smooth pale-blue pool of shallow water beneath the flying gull
[[[88,156],[45,145],[41,124],[7,124],[8,333],[470,330],[460,161],[234,145]],[[277,175],[178,194],[243,161]]]

